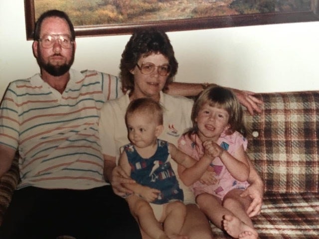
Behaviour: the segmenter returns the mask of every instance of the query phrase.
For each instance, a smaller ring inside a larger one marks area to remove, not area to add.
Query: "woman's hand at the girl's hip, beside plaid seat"
[[[247,214],[250,218],[260,214],[264,197],[264,185],[253,183],[240,196],[248,196],[253,200],[247,209]]]

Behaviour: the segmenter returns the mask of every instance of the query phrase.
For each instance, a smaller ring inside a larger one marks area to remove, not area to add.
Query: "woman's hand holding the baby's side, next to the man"
[[[126,172],[120,167],[115,166],[112,170],[112,178],[110,180],[114,193],[118,196],[124,197],[133,192],[125,187],[124,184],[136,183]]]

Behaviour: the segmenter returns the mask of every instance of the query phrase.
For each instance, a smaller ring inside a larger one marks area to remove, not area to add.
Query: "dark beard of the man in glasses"
[[[60,54],[55,54],[56,56],[59,56]],[[43,70],[45,70],[47,73],[49,73],[52,76],[62,76],[63,74],[65,74],[66,72],[68,72],[73,64],[74,61],[74,48],[72,51],[72,58],[68,63],[64,63],[63,65],[52,65],[50,62],[45,63],[41,52],[38,52],[38,57],[36,59],[38,65],[40,66],[40,68],[42,68]]]

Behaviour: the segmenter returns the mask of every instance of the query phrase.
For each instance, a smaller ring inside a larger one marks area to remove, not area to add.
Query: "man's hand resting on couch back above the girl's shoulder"
[[[257,111],[258,113],[262,112],[258,105],[263,104],[263,102],[254,97],[255,93],[251,91],[240,91],[232,88],[229,89],[235,93],[238,101],[247,108],[251,115],[254,115],[254,111]]]

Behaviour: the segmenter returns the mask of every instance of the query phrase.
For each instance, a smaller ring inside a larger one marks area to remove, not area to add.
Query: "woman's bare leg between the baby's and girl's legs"
[[[212,239],[210,224],[196,204],[186,205],[186,218],[180,234],[189,239]]]

